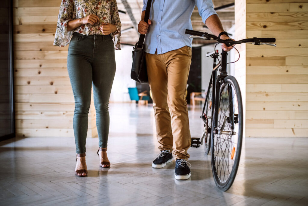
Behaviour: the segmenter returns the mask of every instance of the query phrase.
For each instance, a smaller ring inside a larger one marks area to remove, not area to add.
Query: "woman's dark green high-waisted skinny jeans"
[[[76,153],[86,152],[92,85],[99,147],[107,147],[108,103],[115,76],[115,51],[111,36],[86,36],[75,32],[68,48],[67,70],[75,98],[73,127]]]

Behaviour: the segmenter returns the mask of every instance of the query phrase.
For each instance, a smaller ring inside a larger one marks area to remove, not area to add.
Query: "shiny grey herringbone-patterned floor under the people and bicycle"
[[[200,107],[189,109],[193,137]],[[73,138],[28,137],[0,142],[0,205],[308,205],[308,138],[246,138],[233,186],[217,189],[210,156],[190,148],[192,176],[174,179],[175,162],[154,169],[151,105],[110,105],[108,158],[100,169],[98,139],[87,139],[88,176],[75,177]]]

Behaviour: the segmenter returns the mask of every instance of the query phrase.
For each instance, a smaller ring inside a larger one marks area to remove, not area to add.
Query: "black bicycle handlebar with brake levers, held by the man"
[[[186,29],[185,30],[185,34],[189,34],[189,35],[193,35],[202,39],[207,39],[207,40],[216,40],[220,43],[224,43],[227,46],[233,45],[233,44],[242,44],[242,43],[251,43],[251,44],[255,44],[255,45],[260,45],[262,44],[261,42],[263,42],[264,44],[267,43],[274,43],[276,41],[275,38],[257,38],[257,37],[253,37],[251,39],[242,39],[242,40],[238,40],[238,41],[234,41],[234,40],[222,40],[220,38],[218,38],[215,35],[209,34],[207,32],[198,32],[198,31],[194,31],[194,30],[189,30]],[[276,46],[276,44],[267,44],[270,46]]]

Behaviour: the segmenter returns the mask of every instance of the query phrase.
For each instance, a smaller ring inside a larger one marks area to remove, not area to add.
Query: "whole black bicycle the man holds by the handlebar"
[[[242,43],[276,46],[276,44],[272,44],[276,41],[275,38],[254,37],[239,41],[221,40],[206,32],[188,29],[185,30],[185,34],[193,35],[189,38],[216,40],[217,44],[224,43],[227,46]],[[227,191],[235,179],[241,156],[243,105],[237,80],[227,74],[227,64],[236,61],[228,63],[228,53],[225,51],[221,52],[221,60],[219,60],[220,56],[218,50],[216,50],[217,44],[214,51],[206,55],[213,58],[213,71],[202,109],[203,134],[201,141],[200,138],[192,137],[191,147],[197,148],[204,143],[205,153],[209,154],[209,151],[211,151],[214,181],[221,191]],[[240,56],[237,61],[239,58]]]

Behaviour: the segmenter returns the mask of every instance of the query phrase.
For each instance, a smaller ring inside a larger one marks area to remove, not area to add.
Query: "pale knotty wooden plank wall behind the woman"
[[[52,45],[59,6],[59,0],[14,0],[17,136],[74,136],[74,97],[66,66],[68,47]],[[91,108],[88,137],[97,134],[93,111]]]

